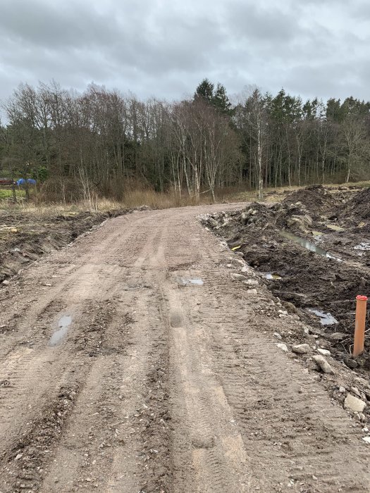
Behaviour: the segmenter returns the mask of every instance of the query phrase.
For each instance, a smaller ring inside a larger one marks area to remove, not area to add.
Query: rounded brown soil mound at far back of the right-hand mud
[[[322,185],[314,185],[292,192],[284,199],[283,205],[292,206],[297,202],[314,214],[327,213],[337,205],[331,192]]]

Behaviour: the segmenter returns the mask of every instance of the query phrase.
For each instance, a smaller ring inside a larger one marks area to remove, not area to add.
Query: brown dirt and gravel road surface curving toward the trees
[[[0,492],[369,492],[361,429],[196,218],[230,207],[111,219],[1,290]]]

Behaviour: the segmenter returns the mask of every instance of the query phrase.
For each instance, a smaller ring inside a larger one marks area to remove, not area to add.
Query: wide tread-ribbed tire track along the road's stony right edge
[[[217,277],[214,273],[209,279]],[[233,309],[235,299],[226,292],[217,296],[217,285],[212,284],[210,292],[218,310]],[[250,303],[247,296],[244,302]],[[354,466],[357,473],[343,474],[338,445],[343,444],[349,425],[343,411],[333,406],[330,413],[324,411],[328,406],[325,392],[295,363],[286,357],[282,361],[280,351],[261,335],[267,325],[259,321],[257,335],[252,320],[240,318],[240,310],[238,314],[238,318],[230,315],[227,323],[221,323],[218,311],[216,316],[210,308],[202,316],[214,338],[214,365],[228,403],[235,409],[249,465],[259,477],[258,487],[262,491],[280,491],[282,485],[292,491],[326,492],[333,487],[366,491],[367,482],[357,486],[361,467]],[[355,439],[351,442],[356,454],[364,456]]]

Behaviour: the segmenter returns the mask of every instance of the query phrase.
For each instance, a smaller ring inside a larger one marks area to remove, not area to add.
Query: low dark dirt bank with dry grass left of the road
[[[69,244],[110,217],[132,209],[66,214],[0,213],[0,283],[44,254]]]

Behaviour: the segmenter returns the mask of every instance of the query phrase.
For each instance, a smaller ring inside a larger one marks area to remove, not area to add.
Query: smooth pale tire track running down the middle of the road
[[[190,323],[185,308],[189,306],[186,289],[167,292],[172,321],[172,413],[177,425],[173,433],[174,468],[180,471],[173,478],[171,491],[180,492],[185,484],[194,492],[247,491],[251,478],[245,471],[247,458],[240,447],[242,439],[209,366],[202,330]],[[196,297],[192,288],[188,292]],[[188,463],[192,463],[191,468]]]

